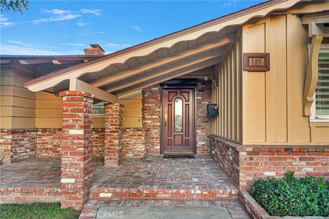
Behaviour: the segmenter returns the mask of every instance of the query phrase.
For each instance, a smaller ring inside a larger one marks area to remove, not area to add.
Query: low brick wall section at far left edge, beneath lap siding
[[[36,129],[0,129],[2,164],[20,162],[36,155]]]

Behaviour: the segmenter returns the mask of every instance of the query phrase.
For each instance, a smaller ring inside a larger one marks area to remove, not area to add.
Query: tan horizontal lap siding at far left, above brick
[[[0,68],[1,129],[36,127],[36,94],[23,87],[32,77],[12,66],[1,65]]]

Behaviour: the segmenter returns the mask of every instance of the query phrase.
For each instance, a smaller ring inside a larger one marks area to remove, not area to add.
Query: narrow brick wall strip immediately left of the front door
[[[149,130],[148,153],[160,154],[160,86],[144,88],[145,128]]]

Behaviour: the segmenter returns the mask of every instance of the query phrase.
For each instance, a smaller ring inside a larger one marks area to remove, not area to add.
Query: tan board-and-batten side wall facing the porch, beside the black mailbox
[[[242,70],[241,31],[226,58],[215,66],[217,83],[212,83],[212,102],[219,107],[219,116],[212,118],[212,133],[242,142]]]

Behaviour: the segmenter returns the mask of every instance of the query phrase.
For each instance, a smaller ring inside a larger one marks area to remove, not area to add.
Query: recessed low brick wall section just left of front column
[[[37,157],[60,157],[62,151],[62,129],[38,129]]]

